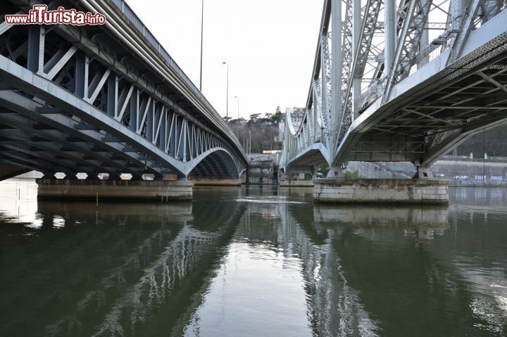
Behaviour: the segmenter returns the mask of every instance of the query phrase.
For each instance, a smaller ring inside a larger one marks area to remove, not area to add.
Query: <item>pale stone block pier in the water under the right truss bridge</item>
[[[449,203],[447,180],[313,179],[313,198],[323,203]]]

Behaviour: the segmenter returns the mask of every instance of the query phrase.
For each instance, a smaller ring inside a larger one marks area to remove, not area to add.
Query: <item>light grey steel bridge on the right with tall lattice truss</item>
[[[383,22],[382,22],[383,20]],[[308,98],[280,167],[408,161],[418,177],[507,120],[503,0],[325,0]]]

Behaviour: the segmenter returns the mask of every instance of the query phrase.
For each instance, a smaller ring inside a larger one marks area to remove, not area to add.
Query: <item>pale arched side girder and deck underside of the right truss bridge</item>
[[[463,56],[446,65],[447,50],[393,88],[353,123],[337,150],[339,163],[364,137],[401,136],[423,141],[413,163],[428,167],[468,136],[507,121],[507,11],[470,32]]]

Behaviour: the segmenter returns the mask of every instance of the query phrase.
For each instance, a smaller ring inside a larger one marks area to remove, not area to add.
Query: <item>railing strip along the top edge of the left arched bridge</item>
[[[152,46],[154,46],[154,48],[158,51],[158,53],[160,53],[163,56],[163,58],[165,58],[165,61],[167,61],[169,63],[170,67],[173,68],[173,70],[177,73],[177,75],[179,75],[181,77],[183,82],[185,82],[187,84],[187,86],[192,91],[194,91],[194,94],[197,96],[197,98],[199,98],[204,103],[204,106],[206,106],[206,108],[208,108],[208,110],[210,110],[211,113],[213,113],[213,115],[215,115],[215,117],[217,117],[218,121],[220,121],[220,123],[223,125],[223,127],[228,129],[230,131],[230,133],[233,134],[229,125],[227,125],[227,123],[223,120],[223,118],[220,116],[220,114],[215,110],[215,108],[213,108],[211,103],[209,103],[209,101],[206,99],[206,97],[204,97],[204,95],[201,93],[201,91],[199,89],[197,89],[194,82],[192,82],[192,80],[189,79],[187,74],[185,74],[183,72],[182,68],[180,68],[180,66],[177,65],[177,63],[173,60],[173,58],[170,57],[168,51],[166,51],[164,49],[164,47],[161,45],[161,43],[158,42],[158,40],[154,37],[154,34],[152,34],[150,32],[150,30],[144,25],[144,23],[142,23],[142,20],[139,19],[139,17],[136,15],[136,13],[134,13],[132,8],[130,8],[130,6],[125,2],[125,0],[112,0],[112,1],[113,1],[113,4],[115,4],[115,6],[130,21],[130,23],[132,23],[132,25],[134,25],[134,27],[137,28],[139,33],[142,34],[142,36],[144,38],[146,38],[146,40],[148,40]]]

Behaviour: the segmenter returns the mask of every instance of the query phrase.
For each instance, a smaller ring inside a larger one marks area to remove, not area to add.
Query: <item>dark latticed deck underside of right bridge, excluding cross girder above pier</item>
[[[365,137],[427,135],[470,129],[507,117],[507,61],[496,62],[408,104],[372,127]]]

